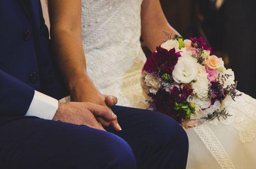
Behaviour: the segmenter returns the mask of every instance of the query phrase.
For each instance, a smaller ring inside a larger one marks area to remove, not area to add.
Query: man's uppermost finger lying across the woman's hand
[[[93,103],[86,103],[87,104],[87,108],[90,112],[92,112],[94,114],[94,116],[96,117],[102,117],[105,120],[115,120],[117,118],[117,116],[107,107],[105,106],[100,106],[100,105],[96,105]]]

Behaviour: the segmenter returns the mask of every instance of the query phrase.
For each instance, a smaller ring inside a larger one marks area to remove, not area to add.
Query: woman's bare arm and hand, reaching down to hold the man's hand
[[[105,107],[116,103],[115,97],[103,96],[86,71],[81,35],[81,0],[48,0],[51,47],[72,101],[91,102]],[[106,104],[107,103],[107,104]],[[108,107],[109,108],[109,107]],[[97,118],[108,126],[109,121]],[[117,121],[112,126],[119,130]]]

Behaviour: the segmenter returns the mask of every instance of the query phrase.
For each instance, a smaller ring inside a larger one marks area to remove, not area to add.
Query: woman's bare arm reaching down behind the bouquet
[[[163,40],[167,39],[164,31],[179,35],[165,18],[159,0],[144,0],[142,3],[142,39],[151,52],[156,51]]]

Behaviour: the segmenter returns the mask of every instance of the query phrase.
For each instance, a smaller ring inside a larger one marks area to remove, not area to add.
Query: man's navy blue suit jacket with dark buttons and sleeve
[[[0,123],[23,116],[34,90],[68,95],[50,54],[40,0],[0,0]]]

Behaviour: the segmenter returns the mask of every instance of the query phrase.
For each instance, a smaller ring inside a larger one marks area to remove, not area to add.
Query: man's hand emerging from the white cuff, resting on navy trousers
[[[76,125],[86,125],[105,131],[102,125],[96,120],[96,117],[101,117],[109,121],[116,120],[117,118],[112,111],[104,106],[89,102],[68,102],[59,103],[59,108],[53,120],[60,120]]]

